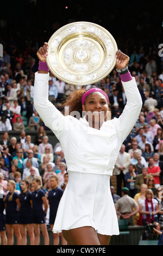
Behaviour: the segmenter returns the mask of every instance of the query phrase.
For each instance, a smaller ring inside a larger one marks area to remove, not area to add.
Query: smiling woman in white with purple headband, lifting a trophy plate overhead
[[[110,236],[119,234],[110,176],[142,107],[135,79],[127,68],[129,57],[120,50],[116,53],[127,104],[119,118],[109,120],[109,99],[99,88],[74,90],[63,105],[64,114],[48,101],[47,54],[45,42],[37,51],[40,61],[35,74],[34,107],[59,139],[68,170],[68,184],[53,232],[62,231],[68,245],[109,245]]]

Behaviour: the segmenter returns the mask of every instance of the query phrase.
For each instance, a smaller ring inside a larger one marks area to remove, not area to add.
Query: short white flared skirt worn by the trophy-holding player
[[[68,171],[53,232],[84,226],[102,235],[118,235],[118,220],[110,192],[110,175]]]

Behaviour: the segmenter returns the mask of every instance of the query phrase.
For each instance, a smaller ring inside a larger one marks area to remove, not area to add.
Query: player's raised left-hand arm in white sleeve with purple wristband
[[[60,131],[63,130],[62,127],[65,117],[48,100],[49,72],[46,64],[47,54],[48,44],[45,42],[45,44],[37,51],[37,57],[40,61],[39,71],[35,73],[34,107],[45,125],[49,127],[49,129],[51,129],[58,137]]]

